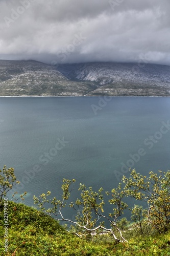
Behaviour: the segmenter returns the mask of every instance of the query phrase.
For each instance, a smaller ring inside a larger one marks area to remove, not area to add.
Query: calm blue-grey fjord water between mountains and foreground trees
[[[110,190],[130,165],[141,174],[170,168],[169,113],[161,97],[0,98],[1,168],[15,168],[28,205],[47,190],[60,195],[63,178]]]

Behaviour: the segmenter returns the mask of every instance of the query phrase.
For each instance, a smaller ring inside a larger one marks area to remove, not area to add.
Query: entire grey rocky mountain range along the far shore
[[[170,96],[170,66],[0,60],[0,96]]]

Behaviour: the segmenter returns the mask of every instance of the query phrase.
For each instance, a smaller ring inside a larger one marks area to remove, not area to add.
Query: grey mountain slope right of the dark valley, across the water
[[[170,66],[92,62],[57,69],[69,79],[95,82],[88,95],[170,96]]]

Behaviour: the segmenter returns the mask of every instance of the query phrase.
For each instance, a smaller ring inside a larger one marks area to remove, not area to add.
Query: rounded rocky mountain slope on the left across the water
[[[89,87],[41,62],[0,60],[0,96],[84,95]]]

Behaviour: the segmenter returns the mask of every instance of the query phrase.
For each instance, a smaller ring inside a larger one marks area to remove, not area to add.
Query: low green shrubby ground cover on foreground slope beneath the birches
[[[4,205],[0,208],[0,255],[170,255],[170,232],[155,237],[134,236],[129,244],[116,244],[109,236],[86,241],[68,233],[40,211],[9,201],[8,252],[4,252]]]

